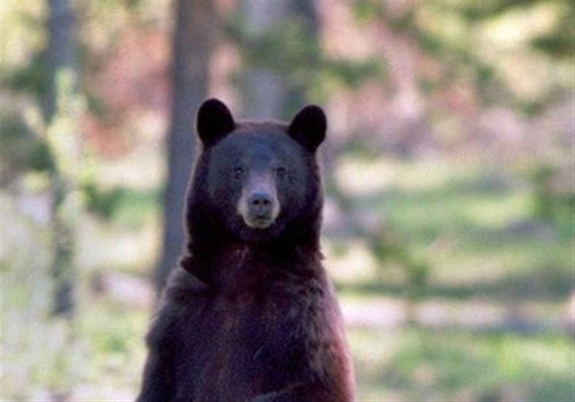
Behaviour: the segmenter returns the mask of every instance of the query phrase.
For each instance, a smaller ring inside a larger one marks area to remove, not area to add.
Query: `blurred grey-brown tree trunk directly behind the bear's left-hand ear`
[[[209,62],[217,33],[213,1],[174,1],[172,112],[167,139],[163,250],[156,265],[158,292],[177,265],[185,244],[183,209],[194,148],[193,116],[208,94]]]

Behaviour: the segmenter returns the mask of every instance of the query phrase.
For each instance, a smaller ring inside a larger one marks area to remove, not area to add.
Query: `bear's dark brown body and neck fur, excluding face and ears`
[[[293,141],[283,125],[233,127],[230,136],[275,127],[279,145]],[[196,165],[188,253],[148,334],[137,402],[350,402],[342,318],[321,265],[322,197],[313,153],[300,147],[303,185],[312,187],[300,210],[286,212],[280,232],[252,241],[235,232],[225,209],[217,212],[206,194],[212,146]]]

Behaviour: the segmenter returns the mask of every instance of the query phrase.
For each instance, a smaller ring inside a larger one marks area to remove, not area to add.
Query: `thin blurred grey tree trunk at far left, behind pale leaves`
[[[74,265],[76,194],[80,135],[78,129],[78,67],[74,41],[74,11],[68,0],[48,1],[48,95],[44,113],[51,169],[52,225],[55,256],[51,274],[54,281],[52,311],[70,317],[74,312]]]

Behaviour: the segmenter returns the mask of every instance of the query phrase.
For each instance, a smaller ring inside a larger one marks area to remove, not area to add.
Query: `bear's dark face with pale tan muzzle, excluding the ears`
[[[315,169],[281,127],[243,125],[210,151],[207,196],[229,231],[247,242],[285,231],[315,194]]]

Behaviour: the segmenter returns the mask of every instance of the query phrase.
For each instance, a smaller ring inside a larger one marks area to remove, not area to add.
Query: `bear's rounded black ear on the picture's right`
[[[310,152],[315,152],[325,138],[327,118],[316,105],[308,105],[300,110],[290,122],[287,133]]]

